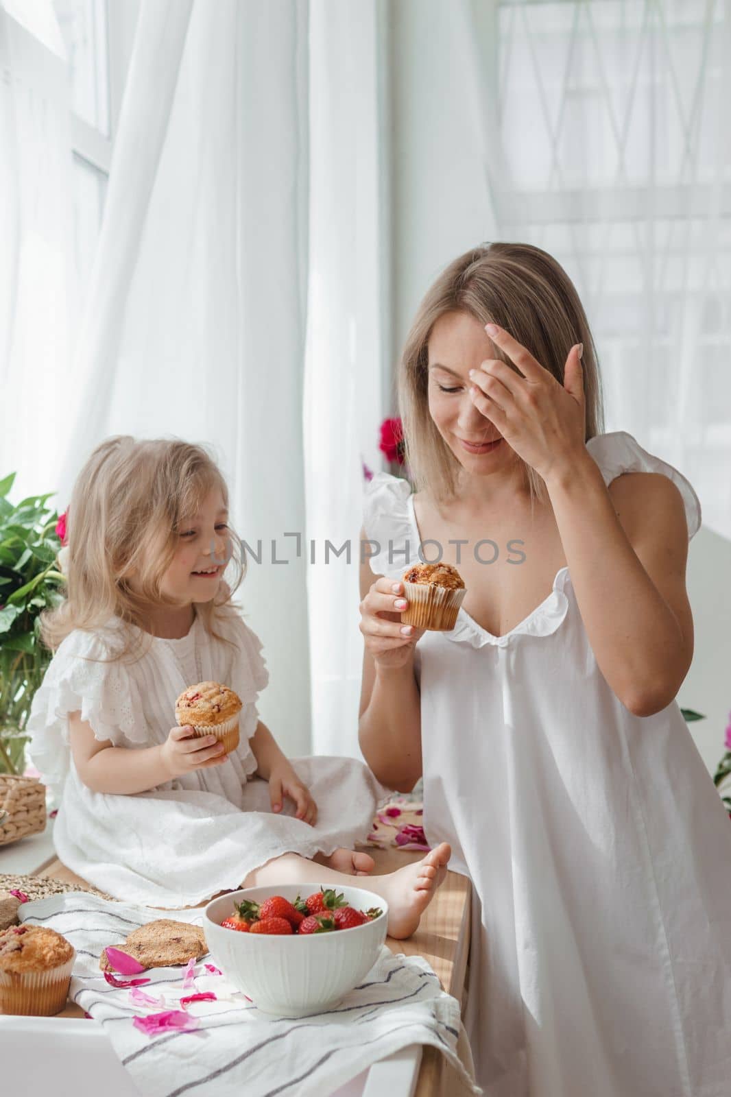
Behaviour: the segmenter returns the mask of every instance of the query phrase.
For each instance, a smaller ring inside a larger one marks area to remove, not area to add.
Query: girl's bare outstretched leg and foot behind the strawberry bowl
[[[369,877],[368,890],[381,895],[389,904],[389,932],[392,937],[411,937],[419,924],[437,887],[447,873],[451,849],[446,841],[420,861],[405,864],[384,877]],[[261,868],[249,872],[241,887],[266,887],[278,884],[316,884],[325,887],[352,887],[353,878],[327,866],[283,853]]]

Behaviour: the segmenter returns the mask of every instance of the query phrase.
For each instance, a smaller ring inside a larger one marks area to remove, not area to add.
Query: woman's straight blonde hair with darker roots
[[[446,313],[468,313],[483,326],[505,328],[561,384],[569,351],[584,343],[584,441],[604,432],[596,348],[571,279],[548,252],[529,244],[482,245],[454,259],[427,290],[398,365],[398,406],[415,490],[446,499],[453,495],[462,467],[429,414],[429,336]],[[497,355],[507,361],[499,350]],[[524,467],[531,504],[543,501],[542,478],[517,454],[515,459]]]

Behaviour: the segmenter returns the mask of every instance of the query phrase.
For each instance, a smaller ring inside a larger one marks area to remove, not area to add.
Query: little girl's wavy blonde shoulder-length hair
[[[74,629],[98,631],[112,617],[149,635],[145,630],[149,607],[178,604],[162,593],[160,584],[180,545],[179,522],[199,512],[212,488],[220,489],[228,506],[221,470],[201,445],[179,439],[137,441],[130,436],[108,438],[98,445],[74,486],[66,598],[41,615],[46,646],[56,651]],[[234,607],[232,595],[246,570],[233,535],[230,551],[235,581],[220,583],[211,601],[196,604],[207,631],[224,643],[216,624]],[[151,636],[140,648],[133,630],[124,633],[114,658],[133,654],[136,658],[149,648]]]

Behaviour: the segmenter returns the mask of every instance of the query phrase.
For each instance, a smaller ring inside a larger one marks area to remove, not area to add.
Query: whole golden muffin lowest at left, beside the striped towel
[[[66,1005],[74,947],[45,926],[0,932],[0,1014],[53,1017]]]

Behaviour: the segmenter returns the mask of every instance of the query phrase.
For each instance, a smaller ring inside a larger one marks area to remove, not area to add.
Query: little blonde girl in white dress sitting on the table
[[[31,757],[63,800],[61,861],[111,895],[194,905],[272,883],[352,883],[373,868],[350,846],[384,790],[346,758],[288,761],[258,719],[261,644],[224,581],[237,569],[228,498],[207,453],[182,441],[112,438],[94,450],[69,507],[67,598],[43,621],[55,651],[29,722]],[[199,681],[243,702],[240,744],[172,726]],[[262,778],[263,780],[257,780]],[[409,936],[449,849],[369,887]]]

